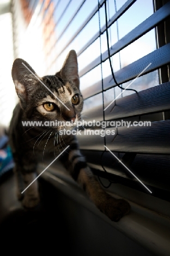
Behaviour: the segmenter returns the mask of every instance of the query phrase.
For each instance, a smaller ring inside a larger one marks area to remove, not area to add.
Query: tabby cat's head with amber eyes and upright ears
[[[12,77],[21,107],[30,120],[66,122],[66,126],[54,127],[57,130],[70,129],[71,121],[80,120],[83,98],[74,50],[70,51],[62,69],[55,75],[40,78],[26,61],[16,59]]]

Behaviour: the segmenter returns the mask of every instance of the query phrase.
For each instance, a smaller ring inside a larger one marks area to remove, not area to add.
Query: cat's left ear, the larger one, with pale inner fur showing
[[[16,93],[21,100],[21,104],[25,104],[28,97],[31,96],[34,91],[34,85],[38,81],[38,75],[35,73],[34,69],[22,59],[16,59],[14,61],[11,73]]]

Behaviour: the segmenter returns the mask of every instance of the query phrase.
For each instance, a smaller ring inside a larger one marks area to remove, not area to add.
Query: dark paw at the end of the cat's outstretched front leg
[[[113,222],[118,222],[120,218],[129,213],[130,204],[124,199],[114,199],[108,196],[105,202],[102,202],[99,209]]]

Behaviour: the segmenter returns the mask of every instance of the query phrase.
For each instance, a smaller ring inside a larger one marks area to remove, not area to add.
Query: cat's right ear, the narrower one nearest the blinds
[[[71,50],[66,56],[60,75],[64,80],[71,80],[78,88],[80,80],[78,77],[78,62],[75,50]]]

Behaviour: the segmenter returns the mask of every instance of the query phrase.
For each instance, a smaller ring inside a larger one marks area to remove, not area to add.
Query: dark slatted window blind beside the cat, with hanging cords
[[[19,0],[13,1],[13,17],[16,2]],[[21,2],[26,3],[22,5],[27,14],[23,18],[27,22],[26,38],[34,39],[36,56],[41,56],[33,63],[33,48],[26,40],[25,45],[20,43],[15,33],[15,42],[22,44],[22,58],[43,75],[53,74],[61,68],[69,50],[75,49],[84,97],[82,119],[84,123],[108,122],[105,128],[85,123],[86,130],[78,136],[93,172],[99,179],[108,179],[108,185],[116,182],[148,193],[106,146],[153,196],[169,201],[170,2]],[[21,53],[16,55],[21,57]],[[130,83],[130,90],[124,90]],[[122,120],[140,125],[127,128]],[[111,126],[111,121],[121,125]],[[144,121],[151,125],[142,125]],[[115,134],[87,135],[87,130],[114,130]]]

